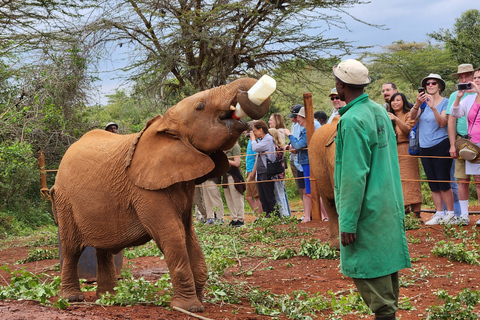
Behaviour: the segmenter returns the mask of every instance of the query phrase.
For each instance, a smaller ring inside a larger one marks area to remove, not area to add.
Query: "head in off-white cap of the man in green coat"
[[[370,83],[368,69],[357,60],[348,59],[333,67],[335,88],[341,100],[349,103],[363,93]]]

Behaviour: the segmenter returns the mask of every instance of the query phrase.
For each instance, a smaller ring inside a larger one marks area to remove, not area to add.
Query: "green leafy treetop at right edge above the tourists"
[[[455,20],[453,30],[440,29],[429,34],[433,39],[445,43],[457,64],[471,63],[480,66],[480,11],[470,9]]]

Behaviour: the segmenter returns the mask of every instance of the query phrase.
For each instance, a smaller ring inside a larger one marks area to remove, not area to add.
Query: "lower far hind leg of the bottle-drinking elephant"
[[[114,294],[117,286],[117,275],[113,254],[107,250],[97,249],[97,298],[107,292]]]

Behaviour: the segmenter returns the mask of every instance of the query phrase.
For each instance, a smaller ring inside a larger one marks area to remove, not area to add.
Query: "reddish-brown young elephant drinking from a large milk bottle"
[[[77,264],[85,247],[97,251],[99,295],[117,284],[113,254],[153,239],[172,278],[171,306],[203,311],[207,267],[193,228],[194,188],[228,170],[223,150],[247,128],[230,106],[240,102],[250,116],[268,111],[270,99],[245,101],[255,83],[244,78],[202,91],[138,134],[93,130],[67,150],[50,190],[62,239],[62,297],[83,299]]]

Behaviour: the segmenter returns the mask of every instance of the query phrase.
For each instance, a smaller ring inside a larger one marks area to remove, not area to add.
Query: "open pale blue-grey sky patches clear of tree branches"
[[[480,10],[480,1],[371,0],[369,4],[355,5],[348,12],[365,22],[384,25],[383,29],[386,30],[373,28],[350,17],[344,17],[350,31],[332,29],[325,35],[353,41],[357,46],[373,45],[375,47],[372,50],[381,51],[382,46],[398,40],[425,42],[428,40],[428,33],[440,29],[452,29],[455,19],[469,9]],[[112,60],[100,63],[99,77],[102,80],[97,83],[99,94],[94,97],[93,104],[106,105],[108,99],[105,95],[113,94],[115,89],[122,88],[122,80],[115,79],[121,74],[114,70],[125,64],[126,54],[128,54],[127,47],[124,46],[114,53]]]

